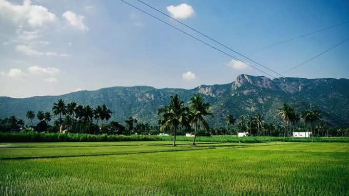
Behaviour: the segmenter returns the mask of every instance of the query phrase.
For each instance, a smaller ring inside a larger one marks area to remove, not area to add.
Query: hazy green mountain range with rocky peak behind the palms
[[[266,122],[281,123],[277,109],[290,103],[300,113],[311,107],[321,111],[322,120],[332,125],[349,125],[349,79],[275,78],[239,75],[227,84],[200,85],[194,89],[156,89],[150,86],[115,86],[96,91],[79,91],[59,96],[29,98],[0,97],[0,118],[26,119],[32,110],[51,111],[53,103],[106,104],[113,112],[111,120],[124,123],[130,116],[141,122],[156,124],[157,109],[168,104],[171,95],[179,94],[187,104],[194,94],[201,94],[211,104],[214,117],[207,120],[211,126],[224,126],[226,116],[261,113]]]

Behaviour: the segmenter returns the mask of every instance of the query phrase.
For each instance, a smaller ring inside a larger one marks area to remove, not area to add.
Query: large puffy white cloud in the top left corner
[[[28,24],[31,27],[41,27],[56,20],[56,16],[47,8],[31,5],[30,0],[23,1],[23,5],[0,0],[0,16],[12,19],[20,26]]]

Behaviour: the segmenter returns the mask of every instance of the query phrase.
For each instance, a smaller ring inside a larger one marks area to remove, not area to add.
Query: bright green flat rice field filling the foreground
[[[170,143],[0,143],[0,195],[349,193],[348,143]]]

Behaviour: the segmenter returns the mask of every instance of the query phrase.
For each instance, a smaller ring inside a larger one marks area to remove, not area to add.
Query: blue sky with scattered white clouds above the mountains
[[[146,2],[279,73],[349,37],[346,24],[260,50],[349,21],[348,1]],[[0,0],[0,27],[0,96],[133,85],[190,89],[229,83],[239,74],[265,75],[121,1]],[[348,78],[348,49],[349,41],[285,76]]]

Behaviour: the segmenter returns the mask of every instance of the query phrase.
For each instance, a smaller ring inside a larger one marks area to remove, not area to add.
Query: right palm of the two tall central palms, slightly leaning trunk
[[[195,140],[197,135],[198,123],[201,123],[206,128],[206,130],[209,130],[208,123],[205,121],[204,116],[213,115],[208,112],[210,105],[209,103],[204,103],[204,97],[201,97],[199,94],[195,94],[193,97],[190,98],[190,101],[191,102],[189,103],[189,117],[191,123],[195,124],[194,140],[192,142],[192,145],[196,145]]]

